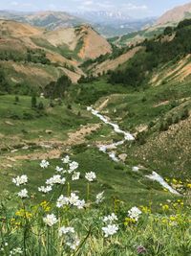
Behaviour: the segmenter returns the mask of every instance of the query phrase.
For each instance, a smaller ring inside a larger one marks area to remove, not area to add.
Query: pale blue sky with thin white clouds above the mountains
[[[0,0],[0,10],[38,12],[125,12],[134,17],[159,16],[186,0]]]

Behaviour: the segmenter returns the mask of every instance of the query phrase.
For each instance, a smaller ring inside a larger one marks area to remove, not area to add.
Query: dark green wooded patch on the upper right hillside
[[[109,81],[111,83],[123,83],[126,86],[141,86],[148,79],[148,74],[160,64],[169,62],[172,59],[184,57],[190,53],[191,30],[189,20],[178,25],[175,29],[175,38],[170,41],[145,40],[142,44],[145,51],[139,52],[128,61],[127,65],[112,72]],[[166,31],[165,31],[166,34]]]

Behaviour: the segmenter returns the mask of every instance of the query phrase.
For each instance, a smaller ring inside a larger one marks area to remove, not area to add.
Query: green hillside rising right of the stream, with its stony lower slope
[[[102,113],[116,121],[124,130],[136,133],[138,128],[147,128],[153,123],[146,133],[144,145],[135,143],[130,149],[123,147],[119,150],[128,154],[129,163],[141,163],[158,170],[164,176],[184,179],[190,177],[190,119],[172,125],[167,131],[159,131],[162,121],[169,117],[180,118],[185,107],[190,109],[190,96],[188,80],[177,84],[152,86],[144,91],[103,97],[100,102],[104,102],[106,98],[109,98],[109,102],[102,109]],[[100,140],[99,135],[97,133],[95,140]]]

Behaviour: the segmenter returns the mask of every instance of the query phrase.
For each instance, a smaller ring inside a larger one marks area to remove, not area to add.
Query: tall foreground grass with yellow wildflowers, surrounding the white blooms
[[[84,165],[79,162],[84,171],[87,170],[90,158],[91,156]],[[51,167],[43,172],[50,174],[54,164],[51,162]],[[56,164],[61,165],[61,161]],[[92,170],[95,171],[94,167]],[[96,180],[88,182],[84,177],[85,173],[81,172],[81,169],[78,171],[81,178],[74,181],[75,185],[71,181],[71,175],[65,174],[66,183],[53,185],[51,194],[44,196],[37,192],[37,186],[40,184],[35,187],[31,185],[32,176],[29,175],[29,185],[22,185],[22,188],[29,190],[29,198],[18,198],[13,194],[1,200],[1,255],[190,255],[191,216],[187,197],[168,199],[163,203],[159,200],[158,207],[153,207],[152,201],[149,204],[144,201],[142,205],[137,202],[140,213],[138,219],[135,219],[128,213],[130,206],[127,203],[119,198],[110,201],[107,193],[96,203],[96,194],[103,190],[101,186],[97,187],[97,183],[105,178],[101,173],[96,172]],[[121,182],[121,179],[119,173],[118,181]],[[42,185],[45,178],[40,181]],[[32,189],[36,191],[36,195],[32,193]],[[19,188],[15,191],[18,192]],[[58,207],[57,198],[60,195],[70,197],[72,192],[79,198],[85,198],[83,207],[77,209],[72,202]],[[123,193],[125,190],[121,192],[121,196]],[[35,197],[38,197],[38,203],[33,200]],[[115,213],[117,218],[111,221],[111,224],[115,224],[118,230],[113,235],[105,236],[102,228],[107,223],[103,218],[112,213]],[[48,224],[44,218],[52,214],[56,221]],[[60,235],[61,227],[73,227],[74,232]],[[71,244],[74,246],[71,247]]]

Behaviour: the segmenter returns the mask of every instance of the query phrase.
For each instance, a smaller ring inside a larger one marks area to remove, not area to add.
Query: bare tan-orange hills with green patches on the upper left
[[[109,42],[90,26],[47,31],[0,20],[0,64],[11,83],[43,87],[62,74],[76,83],[85,75],[78,67],[81,62],[111,52]]]

